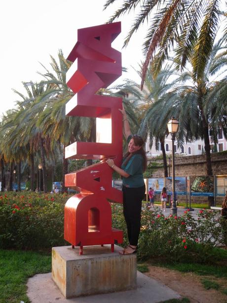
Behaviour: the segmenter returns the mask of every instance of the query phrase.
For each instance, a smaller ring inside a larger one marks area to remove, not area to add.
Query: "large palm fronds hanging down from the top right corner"
[[[114,1],[107,0],[104,9]],[[109,22],[140,8],[124,46],[146,20],[151,23],[143,45],[146,59],[143,65],[142,87],[151,59],[153,71],[157,75],[173,45],[177,46],[177,66],[185,67],[186,62],[192,57],[194,78],[202,77],[212,52],[220,16],[226,18],[220,10],[221,4],[219,0],[125,0],[123,2]]]

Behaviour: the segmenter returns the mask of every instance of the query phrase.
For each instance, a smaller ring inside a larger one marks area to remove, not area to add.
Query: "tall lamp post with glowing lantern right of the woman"
[[[174,140],[175,140],[175,133],[178,130],[178,126],[179,126],[179,122],[177,119],[174,119],[174,117],[172,117],[167,124],[168,131],[172,135],[172,199],[173,199],[173,203],[171,206],[172,215],[177,215],[177,204],[176,204],[176,193],[175,193]]]

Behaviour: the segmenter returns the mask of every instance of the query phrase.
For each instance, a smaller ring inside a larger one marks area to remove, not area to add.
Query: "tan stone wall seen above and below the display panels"
[[[213,153],[211,154],[212,160],[212,170],[214,175],[227,174],[227,153]],[[159,162],[160,160],[158,160]],[[162,162],[162,160],[160,161]],[[167,160],[168,173],[172,176],[172,165]],[[197,156],[182,156],[175,157],[175,175],[179,177],[184,176],[194,176],[194,175],[206,175],[206,156],[197,155]],[[153,178],[162,178],[164,177],[163,168],[158,169],[152,173]],[[185,196],[179,196],[178,201],[185,201]],[[222,202],[223,198],[217,198],[217,204]],[[205,202],[207,197],[191,197],[191,202]]]

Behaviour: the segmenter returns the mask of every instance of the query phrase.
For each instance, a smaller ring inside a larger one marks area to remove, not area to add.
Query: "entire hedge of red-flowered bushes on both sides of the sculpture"
[[[67,194],[9,193],[0,196],[0,249],[50,249],[69,245],[64,240],[64,206]],[[121,204],[112,205],[112,225],[127,230]],[[142,210],[138,259],[164,258],[170,261],[212,262],[215,246],[226,243],[227,220],[202,210],[198,220],[188,211],[183,216],[162,215],[156,207]],[[220,258],[221,255],[220,255]]]

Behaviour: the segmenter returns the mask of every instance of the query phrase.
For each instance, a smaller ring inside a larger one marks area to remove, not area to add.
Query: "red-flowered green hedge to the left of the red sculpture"
[[[0,196],[0,248],[41,249],[65,245],[66,195],[6,193]]]

